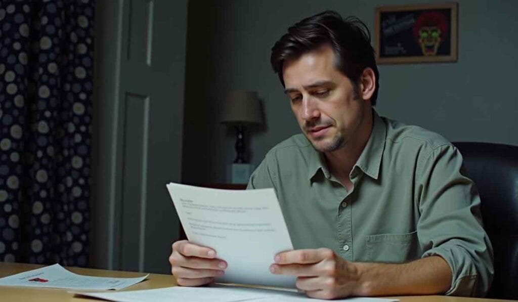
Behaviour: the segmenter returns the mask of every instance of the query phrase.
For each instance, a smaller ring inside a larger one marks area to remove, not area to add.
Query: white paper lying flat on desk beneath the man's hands
[[[247,287],[165,287],[155,290],[142,291],[123,291],[123,292],[103,292],[103,293],[77,293],[74,294],[95,297],[110,301],[120,302],[156,302],[156,301],[183,301],[183,302],[244,302],[256,301],[261,302],[297,302],[297,301],[329,301],[308,298],[304,294],[286,291],[273,291],[263,289],[252,289]],[[348,298],[333,301],[351,301],[351,302],[390,302],[398,301],[397,299],[386,298]]]

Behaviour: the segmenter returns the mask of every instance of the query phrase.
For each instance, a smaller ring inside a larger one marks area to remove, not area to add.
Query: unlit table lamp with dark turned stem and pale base
[[[263,124],[261,102],[255,91],[235,90],[228,93],[222,106],[220,121],[236,129],[236,159],[232,165],[232,182],[246,183],[252,166],[244,158],[244,128]]]

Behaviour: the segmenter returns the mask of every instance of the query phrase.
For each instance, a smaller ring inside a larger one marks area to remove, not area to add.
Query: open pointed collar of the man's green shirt
[[[351,174],[355,173],[356,167],[358,167],[371,178],[378,179],[381,157],[385,148],[386,125],[374,109],[372,109],[372,120],[372,132],[369,140],[356,161]],[[312,148],[308,165],[308,179],[311,180],[319,170],[322,170],[325,178],[331,177],[323,153]]]

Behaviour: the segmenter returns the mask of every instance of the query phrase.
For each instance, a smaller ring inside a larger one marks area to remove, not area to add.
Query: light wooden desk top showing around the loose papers
[[[0,278],[18,274],[19,272],[31,270],[41,267],[36,264],[23,264],[23,263],[5,263],[0,262]],[[68,270],[75,272],[80,275],[90,275],[98,277],[140,277],[143,275],[141,272],[129,272],[129,271],[116,271],[116,270],[104,270],[104,269],[92,269],[92,268],[77,268],[67,267]],[[137,283],[133,286],[126,287],[121,291],[135,291],[135,290],[150,290],[157,289],[159,287],[175,286],[176,281],[171,275],[162,274],[151,274],[148,280]],[[99,301],[98,299],[87,299],[74,297],[72,294],[67,293],[68,290],[62,289],[41,289],[34,287],[15,287],[15,286],[0,286],[0,300],[2,301]],[[494,300],[494,299],[474,299],[474,298],[461,298],[461,297],[445,297],[445,296],[406,296],[397,297],[401,302],[482,302],[482,301],[505,301],[505,300]],[[157,301],[159,302],[159,301]]]

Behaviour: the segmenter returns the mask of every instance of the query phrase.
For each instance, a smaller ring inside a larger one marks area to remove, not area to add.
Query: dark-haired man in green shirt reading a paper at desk
[[[275,44],[271,64],[303,132],[271,149],[248,185],[276,190],[295,248],[275,255],[272,274],[296,276],[314,298],[483,296],[493,251],[462,156],[372,110],[379,74],[366,26],[312,16]],[[175,242],[172,274],[209,283],[226,267],[216,252]]]

